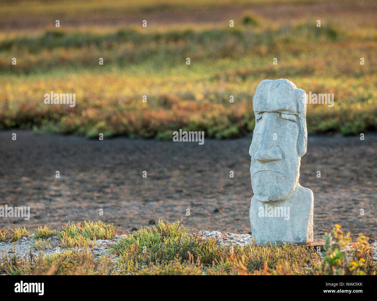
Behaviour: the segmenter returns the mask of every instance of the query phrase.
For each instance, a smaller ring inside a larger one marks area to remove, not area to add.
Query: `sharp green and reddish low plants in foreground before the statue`
[[[103,229],[106,225],[102,225]],[[86,233],[98,232],[98,223],[86,223]],[[72,227],[71,227],[72,228]],[[82,230],[82,227],[80,226]],[[80,231],[73,230],[78,238]],[[64,232],[67,233],[67,232]],[[85,235],[84,232],[81,232]],[[67,234],[68,235],[68,234]],[[116,239],[108,254],[96,255],[88,245],[69,246],[60,253],[35,256],[16,250],[0,258],[0,273],[12,275],[376,275],[368,237],[360,234],[352,242],[354,250],[340,251],[349,243],[336,225],[333,236],[325,236],[322,257],[308,245],[221,246],[215,238],[203,239],[177,221],[144,227]],[[337,245],[330,244],[336,240]],[[38,250],[46,242],[39,239]],[[34,248],[34,249],[35,249]],[[348,253],[349,260],[346,260]],[[112,255],[110,255],[112,254]]]

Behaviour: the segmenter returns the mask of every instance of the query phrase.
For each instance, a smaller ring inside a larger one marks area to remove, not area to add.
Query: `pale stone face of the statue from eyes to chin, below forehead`
[[[280,112],[256,113],[249,153],[251,186],[260,202],[287,200],[298,184],[301,158],[296,118]]]

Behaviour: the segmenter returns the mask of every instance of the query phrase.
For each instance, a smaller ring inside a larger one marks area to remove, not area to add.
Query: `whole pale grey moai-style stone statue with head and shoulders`
[[[307,151],[305,91],[286,79],[262,80],[253,98],[251,232],[257,243],[313,241],[313,192],[299,184]]]

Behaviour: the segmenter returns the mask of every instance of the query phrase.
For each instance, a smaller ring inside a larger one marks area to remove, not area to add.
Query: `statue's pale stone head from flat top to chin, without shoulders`
[[[306,124],[303,129],[297,109],[301,91],[288,80],[266,80],[258,85],[253,99],[256,123],[249,154],[251,186],[260,202],[287,200],[299,183],[303,154],[298,153],[297,143],[303,143],[306,151],[307,137]],[[300,135],[300,131],[305,132]]]

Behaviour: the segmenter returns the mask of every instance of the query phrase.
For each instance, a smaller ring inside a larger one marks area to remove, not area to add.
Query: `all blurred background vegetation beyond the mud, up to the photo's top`
[[[0,129],[170,140],[181,128],[242,137],[254,129],[257,84],[277,78],[307,93],[334,94],[333,107],[308,104],[309,134],[377,129],[375,0],[0,6]],[[44,104],[50,91],[75,93],[76,106]]]

